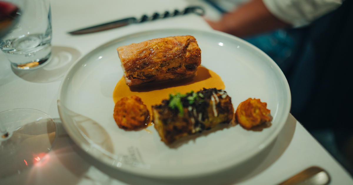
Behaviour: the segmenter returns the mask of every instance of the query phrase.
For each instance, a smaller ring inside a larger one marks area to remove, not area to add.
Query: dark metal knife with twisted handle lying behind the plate
[[[124,19],[112,21],[109,23],[86,27],[86,28],[71,31],[68,33],[71,35],[95,33],[95,32],[99,32],[99,31],[104,31],[104,30],[109,30],[109,29],[113,29],[113,28],[126,26],[129,24],[142,23],[145,21],[151,21],[151,20],[156,20],[156,19],[160,19],[160,18],[174,17],[174,16],[184,15],[184,14],[188,14],[188,13],[195,13],[195,14],[198,14],[199,16],[203,16],[205,14],[205,10],[199,6],[190,6],[190,7],[186,7],[184,9],[184,11],[181,11],[181,12],[178,10],[174,10],[173,13],[169,13],[168,11],[164,12],[163,14],[154,13],[150,17],[148,17],[147,15],[143,15],[140,19],[137,19],[135,17],[129,17],[129,18],[124,18]]]

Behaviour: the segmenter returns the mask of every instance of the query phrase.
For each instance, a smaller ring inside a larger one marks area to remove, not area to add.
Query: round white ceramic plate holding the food
[[[151,132],[119,129],[112,94],[123,73],[116,48],[153,38],[192,35],[202,50],[202,66],[219,74],[234,109],[249,97],[267,102],[272,126],[248,131],[240,125],[199,135],[176,148]],[[105,164],[150,177],[213,173],[244,162],[268,146],[289,114],[291,94],[276,63],[253,45],[216,31],[152,30],[115,39],[76,62],[62,80],[58,109],[71,138]]]

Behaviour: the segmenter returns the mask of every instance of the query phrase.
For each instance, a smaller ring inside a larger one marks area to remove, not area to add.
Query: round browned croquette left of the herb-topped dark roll
[[[119,128],[124,130],[145,128],[150,121],[147,106],[136,95],[121,98],[116,102],[113,116]]]

